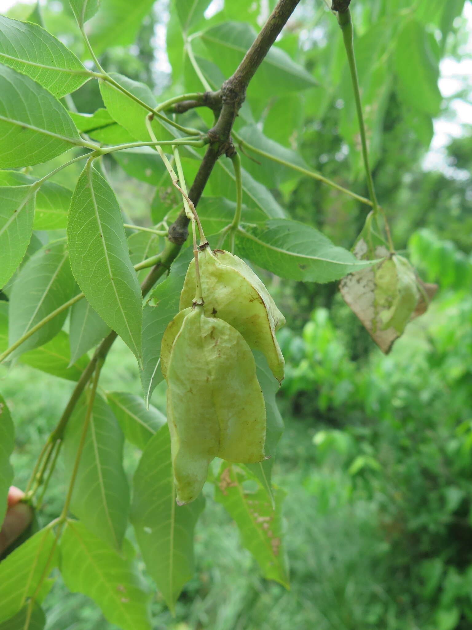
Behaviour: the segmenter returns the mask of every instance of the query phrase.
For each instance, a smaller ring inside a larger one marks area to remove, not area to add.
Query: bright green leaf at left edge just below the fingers
[[[42,529],[16,547],[0,563],[0,621],[19,612],[26,599],[35,593],[46,568],[47,573],[50,573],[57,566],[54,539],[50,529]],[[45,582],[41,588],[39,600],[50,584]]]

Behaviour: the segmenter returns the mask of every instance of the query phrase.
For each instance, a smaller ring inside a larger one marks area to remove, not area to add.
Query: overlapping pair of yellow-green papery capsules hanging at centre
[[[160,366],[183,505],[198,496],[214,457],[239,464],[266,458],[266,408],[251,348],[264,353],[280,382],[275,332],[285,319],[244,261],[208,243],[189,265],[180,309],[162,337]]]

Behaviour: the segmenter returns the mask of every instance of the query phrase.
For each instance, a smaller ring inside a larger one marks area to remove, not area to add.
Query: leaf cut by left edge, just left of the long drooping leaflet
[[[0,287],[20,265],[33,231],[35,188],[1,186],[0,188]]]

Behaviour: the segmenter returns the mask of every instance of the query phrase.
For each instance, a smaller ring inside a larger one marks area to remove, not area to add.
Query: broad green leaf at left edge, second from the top
[[[59,101],[25,74],[0,65],[0,168],[47,162],[82,146]]]

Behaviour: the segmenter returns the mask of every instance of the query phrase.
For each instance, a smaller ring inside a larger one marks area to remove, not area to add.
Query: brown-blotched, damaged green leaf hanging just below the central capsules
[[[285,493],[274,492],[273,509],[262,488],[255,492],[245,490],[245,476],[237,466],[223,462],[218,483],[215,484],[215,501],[235,521],[241,542],[256,558],[266,580],[275,580],[289,588],[288,562],[284,551],[281,525],[281,504]]]

